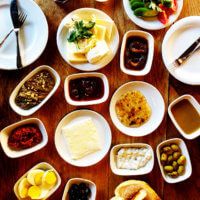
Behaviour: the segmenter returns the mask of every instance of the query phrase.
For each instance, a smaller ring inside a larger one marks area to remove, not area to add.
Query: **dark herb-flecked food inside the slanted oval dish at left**
[[[15,103],[24,110],[40,104],[51,92],[55,79],[47,70],[42,70],[28,79],[20,88]]]

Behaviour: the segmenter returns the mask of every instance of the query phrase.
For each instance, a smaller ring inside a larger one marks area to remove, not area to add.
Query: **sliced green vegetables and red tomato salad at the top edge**
[[[177,0],[129,0],[134,15],[138,17],[157,17],[167,24],[170,15],[177,11]]]

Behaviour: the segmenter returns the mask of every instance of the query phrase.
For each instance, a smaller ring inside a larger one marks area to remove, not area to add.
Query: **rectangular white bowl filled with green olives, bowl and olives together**
[[[192,174],[192,165],[185,142],[173,138],[161,142],[156,150],[161,174],[167,183],[178,183]]]

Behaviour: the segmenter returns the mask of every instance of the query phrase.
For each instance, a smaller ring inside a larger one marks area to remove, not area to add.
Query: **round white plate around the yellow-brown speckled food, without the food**
[[[138,90],[145,97],[151,107],[150,119],[140,127],[130,128],[124,126],[117,117],[115,112],[116,102],[120,99],[121,95],[128,91]],[[151,84],[142,81],[132,81],[125,83],[117,89],[112,96],[110,102],[110,116],[114,125],[124,134],[129,136],[141,137],[152,133],[158,128],[163,120],[165,113],[165,103],[160,92]]]

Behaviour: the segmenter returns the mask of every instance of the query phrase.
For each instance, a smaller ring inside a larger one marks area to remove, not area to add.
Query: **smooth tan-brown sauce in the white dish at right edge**
[[[171,108],[171,112],[186,134],[192,134],[200,129],[200,114],[189,100],[183,99]]]

